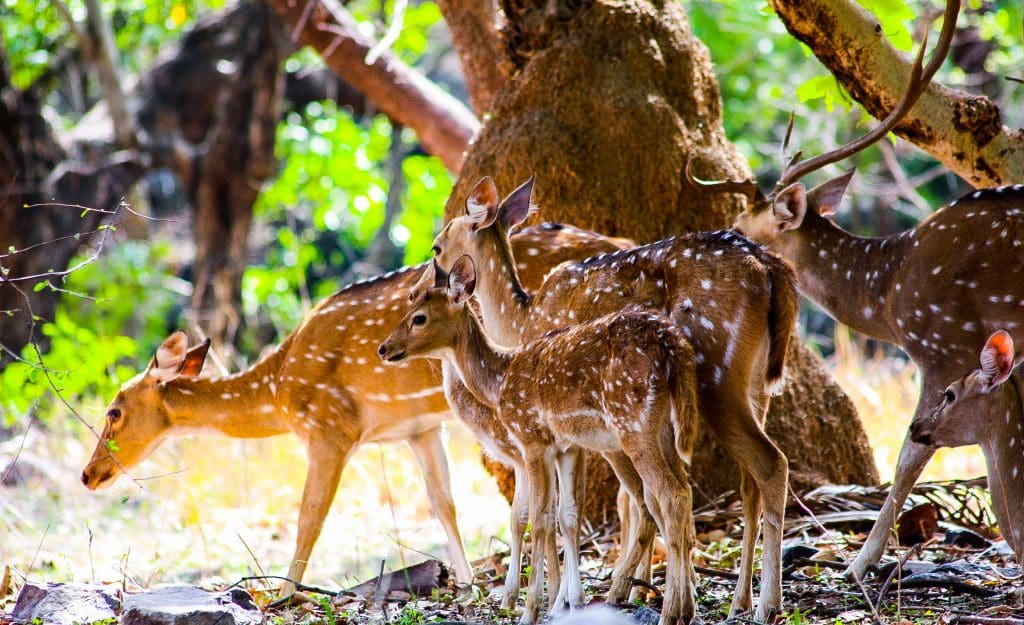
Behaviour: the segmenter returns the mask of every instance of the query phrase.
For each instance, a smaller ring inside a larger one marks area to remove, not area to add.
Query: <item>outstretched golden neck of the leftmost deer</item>
[[[168,383],[165,405],[180,433],[214,430],[232,439],[261,439],[291,431],[275,400],[284,345],[249,369],[213,378]]]

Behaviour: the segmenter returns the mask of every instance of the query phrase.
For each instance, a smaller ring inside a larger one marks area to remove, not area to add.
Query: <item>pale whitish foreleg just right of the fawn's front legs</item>
[[[558,586],[558,594],[552,612],[560,612],[564,608],[575,609],[583,606],[585,595],[583,583],[580,581],[580,509],[579,502],[583,499],[586,488],[584,463],[586,456],[580,448],[572,448],[564,454],[559,454],[556,468],[558,470],[558,525],[561,529],[563,542],[562,575]]]

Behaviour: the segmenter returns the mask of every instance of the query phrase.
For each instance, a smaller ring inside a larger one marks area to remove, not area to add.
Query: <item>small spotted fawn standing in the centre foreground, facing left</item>
[[[555,529],[555,466],[574,447],[628,462],[640,475],[642,491],[634,495],[645,499],[668,550],[662,623],[692,621],[693,518],[684,459],[697,434],[693,348],[667,318],[620,311],[505,349],[467,305],[476,286],[469,256],[456,261],[445,283],[418,296],[379,353],[399,364],[443,359],[518,445],[534,536],[520,622],[540,616],[544,551]]]

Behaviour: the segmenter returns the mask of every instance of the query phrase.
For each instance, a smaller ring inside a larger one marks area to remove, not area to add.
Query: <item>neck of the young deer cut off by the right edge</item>
[[[1004,537],[1024,555],[1024,381],[1020,372],[992,391],[992,428],[981,441],[992,508]]]

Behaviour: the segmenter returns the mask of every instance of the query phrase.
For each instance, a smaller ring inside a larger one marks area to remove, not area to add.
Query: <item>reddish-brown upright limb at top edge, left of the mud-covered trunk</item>
[[[494,108],[495,95],[508,83],[511,64],[498,38],[495,0],[438,0],[452,33],[462,75],[476,115]]]

